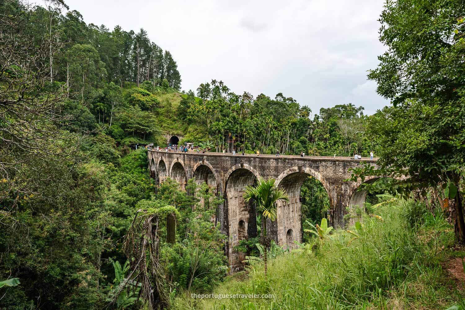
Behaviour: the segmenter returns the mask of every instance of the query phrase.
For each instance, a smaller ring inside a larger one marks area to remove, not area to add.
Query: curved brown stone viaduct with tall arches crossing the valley
[[[226,255],[231,270],[240,268],[243,259],[233,247],[239,240],[257,235],[254,206],[246,204],[242,197],[246,185],[253,185],[259,178],[274,178],[286,190],[289,203],[277,205],[278,219],[271,227],[267,225],[267,232],[277,244],[292,247],[294,240],[302,242],[300,188],[304,180],[312,176],[323,184],[330,200],[330,224],[342,227],[347,207],[361,205],[366,196],[365,191],[357,191],[361,180],[345,181],[351,177],[349,169],[363,162],[376,166],[376,159],[148,151],[151,176],[158,184],[169,177],[185,189],[187,180],[194,178],[198,184],[206,182],[225,199],[217,211],[216,221],[229,237]],[[377,178],[368,177],[364,182],[374,182]]]

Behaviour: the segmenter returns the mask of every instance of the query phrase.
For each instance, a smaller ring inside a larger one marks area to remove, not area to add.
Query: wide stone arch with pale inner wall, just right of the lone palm
[[[289,202],[279,201],[277,207],[277,220],[270,223],[270,235],[279,245],[287,244],[288,248],[295,247],[293,241],[302,242],[302,210],[300,205],[300,189],[305,179],[312,176],[318,179],[326,189],[332,205],[331,192],[325,178],[318,172],[308,167],[292,167],[282,172],[276,179],[276,185],[285,190],[289,195]],[[292,239],[289,240],[288,232],[292,231]],[[291,242],[292,241],[292,242]]]

